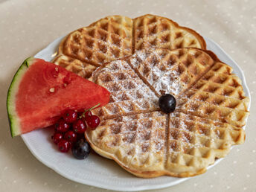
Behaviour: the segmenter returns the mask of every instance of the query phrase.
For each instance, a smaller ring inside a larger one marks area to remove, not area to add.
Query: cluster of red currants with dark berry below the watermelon
[[[89,156],[90,147],[84,139],[86,129],[95,129],[100,124],[100,118],[92,115],[89,110],[77,112],[68,109],[54,125],[54,135],[51,136],[58,149],[66,153],[72,148],[77,159]]]

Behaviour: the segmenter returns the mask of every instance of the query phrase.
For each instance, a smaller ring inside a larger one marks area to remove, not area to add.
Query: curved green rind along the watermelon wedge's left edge
[[[12,82],[10,83],[10,87],[7,92],[7,113],[8,113],[8,121],[10,125],[10,134],[12,137],[19,135],[21,133],[21,128],[19,124],[19,117],[16,113],[16,105],[15,105],[15,99],[16,94],[19,90],[19,83],[22,80],[23,75],[28,70],[28,67],[33,64],[33,57],[28,57],[22,65],[20,65],[18,71],[16,71],[16,74],[13,77]]]

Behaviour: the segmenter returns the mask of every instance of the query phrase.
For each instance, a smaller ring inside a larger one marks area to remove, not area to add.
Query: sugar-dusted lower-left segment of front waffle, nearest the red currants
[[[104,120],[92,138],[119,161],[145,170],[163,168],[165,158],[165,130],[167,115],[148,112]],[[98,138],[98,135],[101,135]]]

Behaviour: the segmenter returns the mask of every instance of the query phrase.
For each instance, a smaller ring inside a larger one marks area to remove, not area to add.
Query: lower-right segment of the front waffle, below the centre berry
[[[215,159],[228,154],[231,145],[243,144],[244,139],[241,128],[173,112],[169,117],[164,174],[184,177],[204,173]]]

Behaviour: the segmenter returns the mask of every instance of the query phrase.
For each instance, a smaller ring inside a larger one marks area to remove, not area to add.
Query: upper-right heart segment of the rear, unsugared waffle
[[[202,36],[170,19],[145,15],[133,19],[135,50],[143,48],[206,48]]]

